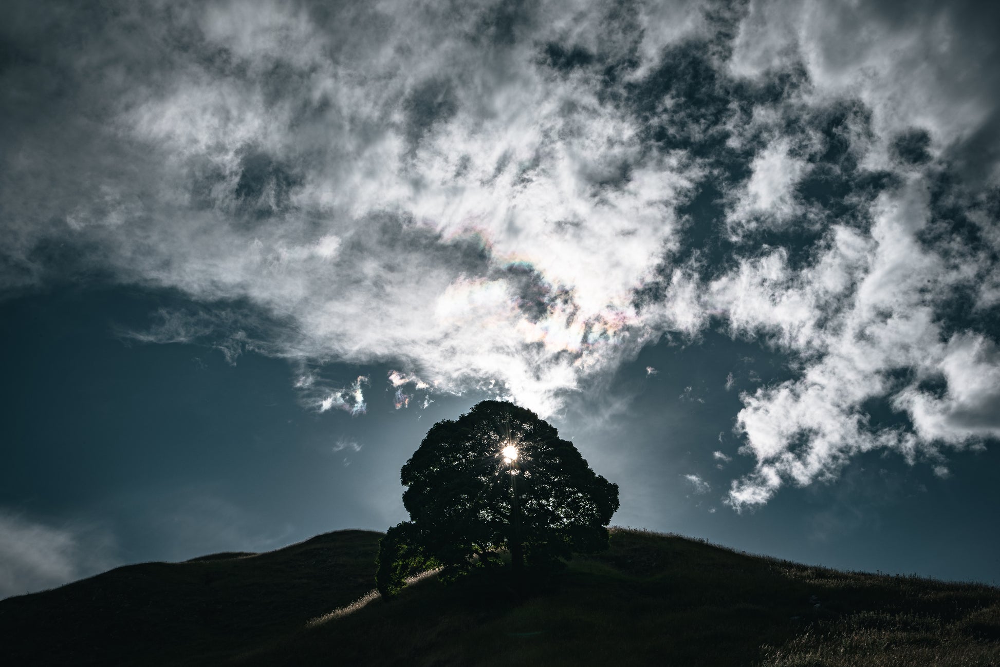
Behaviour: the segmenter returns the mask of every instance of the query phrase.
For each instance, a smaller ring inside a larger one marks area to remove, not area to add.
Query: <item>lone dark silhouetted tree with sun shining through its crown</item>
[[[382,538],[375,579],[386,597],[415,569],[441,566],[453,579],[500,563],[515,575],[558,567],[573,552],[607,548],[618,485],[596,474],[572,442],[529,409],[477,403],[434,424],[402,469],[410,521]]]

